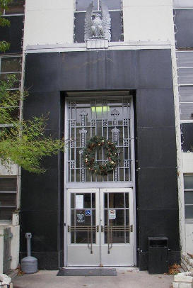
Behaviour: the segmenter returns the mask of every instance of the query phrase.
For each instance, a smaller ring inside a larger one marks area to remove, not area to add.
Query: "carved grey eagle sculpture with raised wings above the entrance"
[[[107,6],[100,1],[101,16],[99,13],[93,13],[93,1],[86,11],[84,40],[88,39],[107,39],[110,41],[111,18]]]

